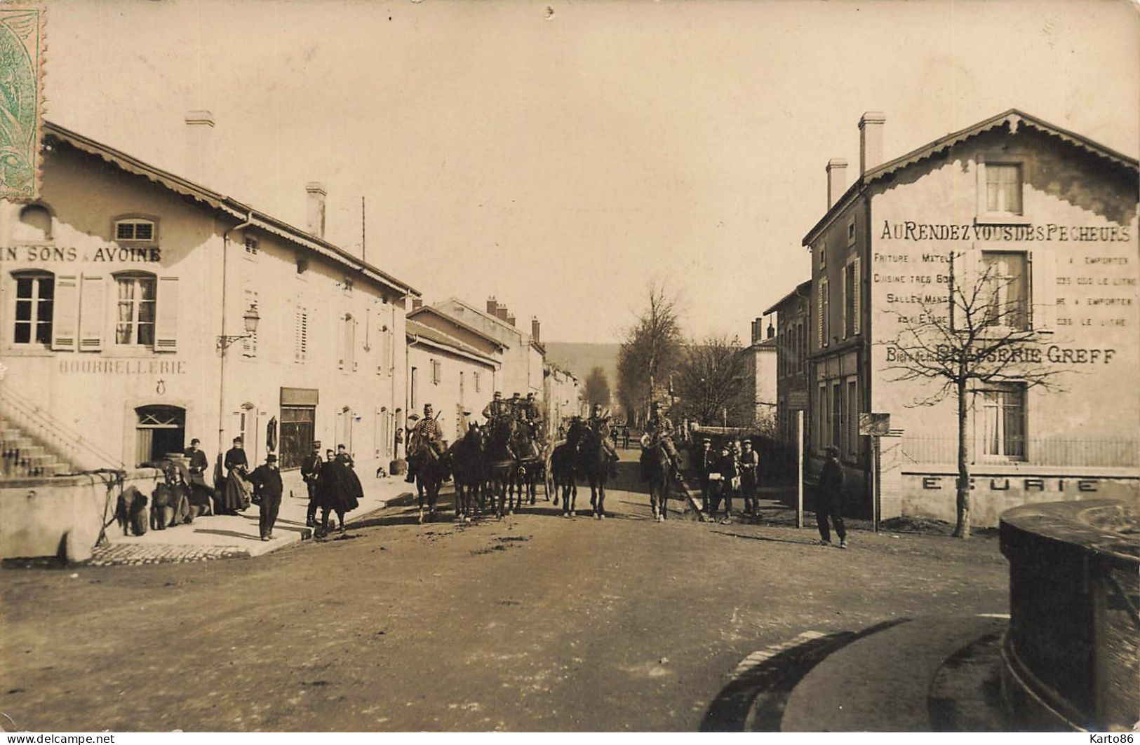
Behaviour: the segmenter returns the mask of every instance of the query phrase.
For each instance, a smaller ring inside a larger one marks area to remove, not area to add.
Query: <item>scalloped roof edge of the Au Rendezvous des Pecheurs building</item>
[[[855,196],[870,183],[873,183],[874,181],[878,181],[880,179],[891,177],[902,169],[909,167],[911,165],[914,165],[915,163],[919,163],[929,157],[938,155],[939,153],[946,150],[947,148],[958,145],[960,142],[963,142],[972,137],[977,137],[978,134],[1002,126],[1008,126],[1011,134],[1017,133],[1017,130],[1019,128],[1027,126],[1029,129],[1037,130],[1039,132],[1043,132],[1045,134],[1061,139],[1068,142],[1069,145],[1081,148],[1085,153],[1096,155],[1098,157],[1102,157],[1117,165],[1122,165],[1133,171],[1140,170],[1140,162],[1138,162],[1133,157],[1129,157],[1127,155],[1117,153],[1116,150],[1105,147],[1100,142],[1096,142],[1086,137],[1076,134],[1075,132],[1070,132],[1066,129],[1061,129],[1056,124],[1050,124],[1049,122],[1045,122],[1041,118],[1037,118],[1036,116],[1033,116],[1032,114],[1026,114],[1025,112],[1011,108],[1002,112],[1001,114],[996,114],[995,116],[991,116],[990,118],[983,120],[977,124],[967,126],[963,130],[951,132],[945,137],[940,137],[937,140],[927,142],[922,147],[911,150],[906,155],[899,156],[893,161],[887,161],[886,163],[882,163],[881,165],[877,165],[873,169],[869,170],[866,173],[861,174],[860,178],[855,179],[855,182],[852,183],[850,187],[848,187],[847,191],[845,191],[841,197],[836,199],[836,203],[831,205],[831,207],[824,213],[824,215],[820,219],[820,221],[812,227],[808,234],[804,236],[803,245],[805,246],[808,245],[816,237],[819,231],[824,226],[826,226],[836,214],[847,208],[847,205],[850,203],[850,200],[854,199]]]

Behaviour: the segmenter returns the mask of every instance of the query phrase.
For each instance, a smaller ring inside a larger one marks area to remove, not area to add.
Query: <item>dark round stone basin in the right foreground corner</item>
[[[1140,497],[1001,516],[1010,625],[1002,693],[1031,729],[1129,730],[1140,718]]]

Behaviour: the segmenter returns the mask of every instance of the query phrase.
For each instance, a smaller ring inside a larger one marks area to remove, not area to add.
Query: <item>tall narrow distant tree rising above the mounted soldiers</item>
[[[618,352],[618,398],[627,416],[638,420],[682,355],[683,336],[677,297],[663,281],[645,287],[649,302],[626,331]]]

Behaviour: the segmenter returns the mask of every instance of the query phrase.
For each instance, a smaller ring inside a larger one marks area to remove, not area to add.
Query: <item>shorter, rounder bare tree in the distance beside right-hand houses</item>
[[[702,424],[751,424],[748,370],[739,339],[710,336],[690,344],[673,376],[681,412]]]

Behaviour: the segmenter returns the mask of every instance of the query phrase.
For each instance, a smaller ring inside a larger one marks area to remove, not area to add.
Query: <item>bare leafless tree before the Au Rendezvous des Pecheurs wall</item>
[[[958,403],[958,484],[954,535],[970,535],[971,394],[985,386],[1017,384],[1026,390],[1057,391],[1057,377],[1067,370],[1044,365],[1041,347],[1051,341],[1031,324],[1025,279],[1003,276],[995,264],[976,272],[955,272],[967,256],[951,255],[948,293],[923,295],[918,313],[891,311],[898,334],[883,342],[891,382],[925,380],[929,387],[907,406],[934,406],[948,398]],[[955,273],[964,273],[956,277]],[[971,276],[972,275],[972,276]],[[1023,443],[1024,447],[1024,443]]]

